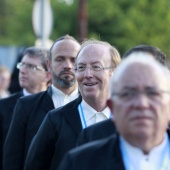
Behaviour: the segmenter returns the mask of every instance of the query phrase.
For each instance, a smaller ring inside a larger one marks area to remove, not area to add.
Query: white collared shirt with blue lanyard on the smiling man
[[[79,114],[83,128],[94,123],[110,118],[110,109],[106,107],[102,112],[97,112],[84,100],[79,105]]]

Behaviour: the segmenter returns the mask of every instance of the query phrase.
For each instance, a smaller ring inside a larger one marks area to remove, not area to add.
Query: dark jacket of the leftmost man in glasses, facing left
[[[23,96],[22,91],[0,100],[0,169],[2,169],[2,147],[11,123],[15,104],[21,96]]]

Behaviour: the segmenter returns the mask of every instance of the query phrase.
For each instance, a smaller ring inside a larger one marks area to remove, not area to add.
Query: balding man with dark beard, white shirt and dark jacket
[[[47,67],[52,84],[45,92],[18,100],[4,144],[3,170],[23,170],[30,142],[46,113],[78,97],[74,62],[79,49],[80,44],[69,35],[57,39],[50,48]]]

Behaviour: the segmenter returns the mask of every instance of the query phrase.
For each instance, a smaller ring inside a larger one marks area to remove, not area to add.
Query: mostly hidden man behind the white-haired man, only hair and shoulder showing
[[[127,51],[123,55],[123,58],[127,58],[130,54],[136,52],[150,53],[152,54],[152,57],[154,57],[158,62],[160,62],[165,67],[167,66],[166,55],[159,48],[149,45],[135,46],[131,48],[129,51]],[[116,129],[112,119],[96,123],[82,130],[78,137],[77,145],[79,146],[93,140],[105,138],[107,136],[112,135],[115,132]]]

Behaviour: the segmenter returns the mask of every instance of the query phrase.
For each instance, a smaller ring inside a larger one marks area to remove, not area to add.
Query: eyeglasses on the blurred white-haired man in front
[[[145,89],[145,90],[126,90],[118,93],[112,93],[112,96],[118,96],[124,101],[136,99],[140,94],[144,94],[148,99],[157,100],[162,98],[162,94],[170,94],[170,91]]]

